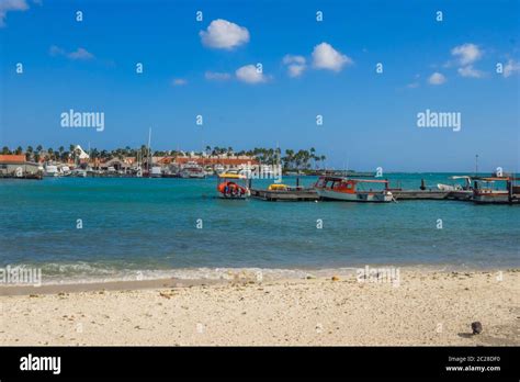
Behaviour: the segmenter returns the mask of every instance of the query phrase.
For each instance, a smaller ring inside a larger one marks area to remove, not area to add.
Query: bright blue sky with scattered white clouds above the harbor
[[[315,147],[328,167],[385,171],[473,171],[478,154],[482,171],[518,171],[519,13],[502,0],[0,0],[0,146],[139,147],[151,127],[161,150]],[[103,113],[104,128],[64,127],[69,110]],[[427,110],[460,113],[460,128],[419,127]]]

